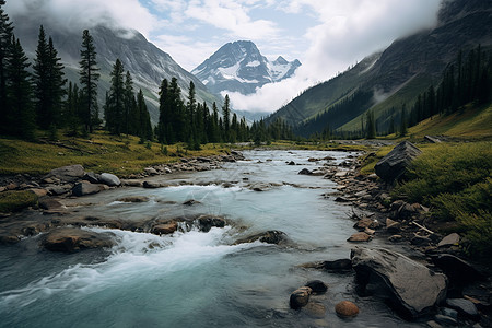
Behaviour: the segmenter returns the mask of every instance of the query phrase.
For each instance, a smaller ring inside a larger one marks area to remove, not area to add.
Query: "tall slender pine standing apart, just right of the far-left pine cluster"
[[[80,50],[80,84],[82,85],[83,105],[81,121],[86,132],[93,131],[95,115],[97,114],[97,80],[99,79],[94,39],[84,30],[82,34],[82,49]]]

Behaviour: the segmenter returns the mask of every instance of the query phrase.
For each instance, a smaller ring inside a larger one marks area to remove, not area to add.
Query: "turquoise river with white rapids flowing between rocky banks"
[[[297,175],[333,156],[321,151],[247,151],[247,161],[223,169],[154,177],[176,186],[118,188],[73,201],[80,214],[142,220],[183,215],[225,216],[230,225],[208,233],[191,229],[156,236],[102,227],[116,246],[107,250],[56,254],[38,247],[40,236],[0,248],[1,327],[417,327],[385,304],[359,297],[354,276],[298,268],[309,261],[349,258],[353,244],[351,208],[326,198],[336,184]],[[301,165],[286,165],[294,161]],[[225,181],[225,184],[224,184]],[[265,191],[248,185],[271,184]],[[116,201],[147,196],[148,202]],[[184,206],[187,200],[194,206]],[[291,243],[237,244],[237,238],[268,230]],[[377,241],[371,242],[372,246]],[[317,296],[324,318],[289,308],[289,296],[319,279],[328,292]],[[335,304],[352,301],[360,314],[337,317]]]

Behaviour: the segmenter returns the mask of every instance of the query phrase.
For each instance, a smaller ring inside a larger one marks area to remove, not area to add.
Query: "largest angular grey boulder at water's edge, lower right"
[[[352,249],[351,258],[361,291],[371,285],[406,318],[426,314],[446,296],[444,274],[435,273],[401,254],[356,247]]]

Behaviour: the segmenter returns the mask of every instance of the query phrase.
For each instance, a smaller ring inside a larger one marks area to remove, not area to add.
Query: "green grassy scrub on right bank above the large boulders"
[[[454,230],[470,242],[470,255],[492,257],[492,142],[437,143],[422,150],[393,198],[430,207],[437,225],[456,222]]]

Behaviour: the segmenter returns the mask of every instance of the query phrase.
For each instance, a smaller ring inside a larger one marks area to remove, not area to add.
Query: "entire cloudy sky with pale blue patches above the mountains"
[[[253,40],[269,59],[303,66],[256,94],[230,93],[236,109],[272,112],[398,37],[435,24],[440,0],[7,0],[12,20],[44,15],[66,28],[134,28],[191,71],[222,45]],[[19,22],[15,22],[19,24]]]

